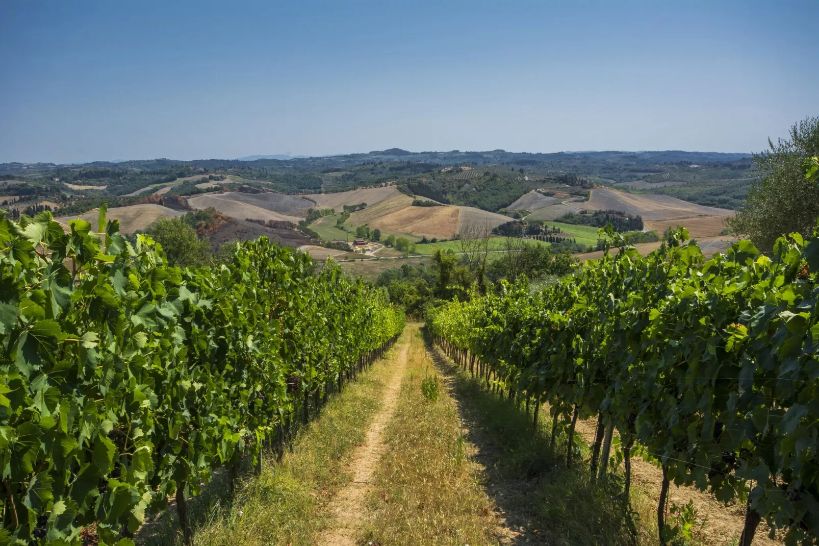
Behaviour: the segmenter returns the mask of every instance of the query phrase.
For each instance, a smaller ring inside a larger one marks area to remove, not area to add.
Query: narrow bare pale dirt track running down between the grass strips
[[[385,379],[381,408],[373,416],[365,434],[364,444],[355,453],[350,463],[349,473],[353,475],[353,480],[341,489],[336,494],[333,503],[330,503],[329,507],[333,512],[334,520],[331,526],[319,536],[318,544],[328,546],[356,544],[355,539],[366,514],[364,498],[373,480],[379,459],[387,449],[382,438],[382,431],[396,411],[401,380],[406,369],[408,348],[409,344],[404,343],[398,349],[390,374]]]

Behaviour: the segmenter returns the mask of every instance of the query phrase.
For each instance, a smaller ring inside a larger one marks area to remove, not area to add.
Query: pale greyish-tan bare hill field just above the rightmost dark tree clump
[[[638,195],[616,189],[595,188],[588,201],[577,207],[596,211],[622,211],[640,215],[643,220],[675,220],[691,216],[729,216],[733,211],[724,208],[704,207],[693,202],[672,198],[668,195]]]

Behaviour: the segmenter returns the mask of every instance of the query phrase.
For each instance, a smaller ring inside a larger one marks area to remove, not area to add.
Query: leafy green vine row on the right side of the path
[[[592,480],[616,480],[629,516],[631,455],[662,467],[658,535],[669,485],[746,503],[740,545],[760,521],[786,544],[819,542],[819,239],[781,238],[772,257],[740,241],[706,261],[682,228],[646,257],[619,252],[529,294],[451,302],[428,319],[437,342],[487,389],[548,403],[551,442],[597,417]],[[614,431],[617,435],[614,435]],[[613,454],[613,458],[610,455]]]

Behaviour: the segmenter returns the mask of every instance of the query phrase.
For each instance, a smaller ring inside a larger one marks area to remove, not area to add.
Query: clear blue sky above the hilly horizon
[[[819,115],[819,2],[0,2],[0,162],[747,152]]]

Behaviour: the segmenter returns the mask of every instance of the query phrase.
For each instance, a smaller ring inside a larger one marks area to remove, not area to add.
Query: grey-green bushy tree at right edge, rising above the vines
[[[766,253],[783,234],[810,236],[819,216],[819,188],[803,170],[806,158],[819,155],[819,117],[794,125],[790,139],[769,144],[767,152],[753,156],[758,184],[736,217],[728,220],[734,234],[747,236]]]

